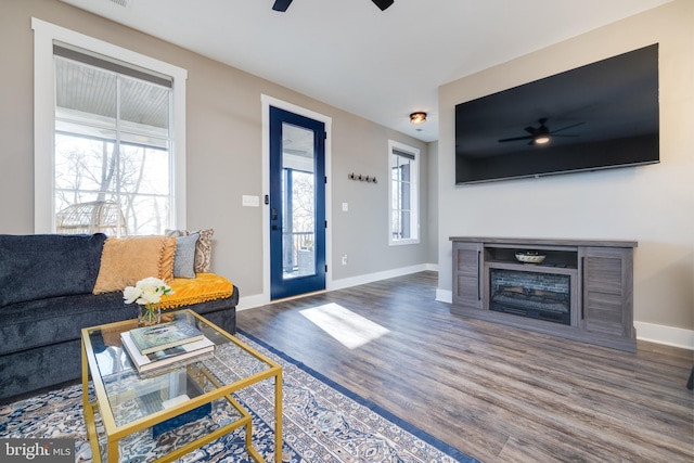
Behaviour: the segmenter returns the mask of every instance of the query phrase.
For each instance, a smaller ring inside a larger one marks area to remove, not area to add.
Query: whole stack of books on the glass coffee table
[[[141,373],[210,352],[215,348],[215,343],[184,320],[130,330],[120,333],[120,340]]]

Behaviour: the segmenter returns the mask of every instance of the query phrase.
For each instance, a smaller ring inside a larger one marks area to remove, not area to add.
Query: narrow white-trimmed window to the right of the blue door
[[[419,156],[420,150],[388,141],[390,163],[389,244],[420,242]]]

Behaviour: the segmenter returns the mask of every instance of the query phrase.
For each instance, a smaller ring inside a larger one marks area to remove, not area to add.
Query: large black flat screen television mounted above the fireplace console
[[[659,160],[657,43],[455,106],[457,184]]]

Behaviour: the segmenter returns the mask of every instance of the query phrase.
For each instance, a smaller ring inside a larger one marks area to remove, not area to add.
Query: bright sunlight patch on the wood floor
[[[390,332],[335,303],[305,309],[300,313],[348,349],[356,349]]]

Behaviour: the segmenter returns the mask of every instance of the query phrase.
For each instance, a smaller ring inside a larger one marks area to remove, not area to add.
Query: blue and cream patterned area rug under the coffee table
[[[284,462],[476,462],[259,339],[243,332],[237,336],[283,368]],[[254,446],[266,461],[274,458],[273,387],[272,381],[266,381],[235,395],[250,411]],[[164,433],[156,441],[145,435],[149,429],[133,435],[126,442],[128,459],[125,461],[152,460],[162,447],[176,446],[178,436],[204,433],[209,425],[206,421],[217,424],[230,422],[233,416],[227,409],[215,407],[209,416]],[[1,407],[0,438],[75,439],[76,462],[91,462],[82,416],[81,386]],[[252,461],[244,449],[243,428],[179,460],[187,463]]]

